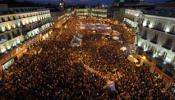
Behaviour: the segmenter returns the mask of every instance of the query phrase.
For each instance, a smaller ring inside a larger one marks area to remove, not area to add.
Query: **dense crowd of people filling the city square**
[[[102,34],[104,31],[80,29],[80,22],[106,24],[122,34],[116,41]],[[48,38],[29,48],[29,52],[37,53],[25,54],[3,72],[0,98],[107,100],[110,95],[104,86],[111,80],[115,82],[116,100],[173,100],[170,91],[163,91],[163,81],[155,78],[148,66],[136,67],[127,60],[129,52],[119,49],[126,46],[130,50],[133,31],[122,23],[111,22],[71,17],[67,27],[53,29]],[[82,35],[82,44],[72,47],[71,40],[77,33]],[[90,72],[85,65],[102,74]]]

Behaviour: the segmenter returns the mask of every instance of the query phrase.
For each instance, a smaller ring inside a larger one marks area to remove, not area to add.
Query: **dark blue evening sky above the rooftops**
[[[56,4],[59,0],[17,0],[17,1],[32,1],[36,3],[51,3]],[[167,0],[145,0],[145,2],[152,2],[152,3],[159,3],[165,2]],[[65,0],[66,3],[69,4],[76,4],[76,3],[83,3],[83,4],[96,4],[96,3],[103,3],[103,4],[111,4],[112,0]]]

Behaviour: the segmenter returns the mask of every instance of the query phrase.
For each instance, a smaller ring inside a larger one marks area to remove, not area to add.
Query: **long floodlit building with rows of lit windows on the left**
[[[26,51],[34,37],[52,26],[49,9],[0,9],[0,65],[6,69]]]

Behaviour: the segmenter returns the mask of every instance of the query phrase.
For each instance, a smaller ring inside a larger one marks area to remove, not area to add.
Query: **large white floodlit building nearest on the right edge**
[[[143,14],[142,18],[137,37],[139,50],[155,62],[157,70],[160,70],[157,72],[161,77],[165,77],[168,81],[174,81],[175,18],[166,17],[166,15],[153,15],[153,12]]]

